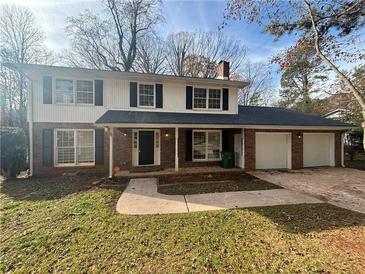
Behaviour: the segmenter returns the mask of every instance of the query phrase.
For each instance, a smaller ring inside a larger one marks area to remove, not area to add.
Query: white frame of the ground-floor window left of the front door
[[[58,131],[73,131],[74,134],[74,153],[75,153],[75,162],[74,163],[67,163],[67,164],[63,164],[63,163],[58,163],[57,159],[58,159],[58,149],[57,149],[57,132]],[[93,144],[94,144],[94,161],[90,162],[90,163],[78,163],[77,162],[77,132],[78,131],[91,131],[93,133]],[[95,165],[95,130],[94,129],[70,129],[70,128],[57,128],[54,129],[54,133],[53,133],[53,161],[54,161],[54,166],[55,167],[70,167],[70,166],[94,166]]]

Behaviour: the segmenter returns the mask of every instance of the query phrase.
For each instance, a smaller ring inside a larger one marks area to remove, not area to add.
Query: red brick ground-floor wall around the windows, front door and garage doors
[[[85,170],[87,172],[108,174],[109,167],[109,135],[104,135],[104,164],[84,167],[44,167],[42,163],[42,132],[43,129],[70,128],[85,129],[95,128],[93,124],[64,124],[64,123],[34,123],[33,125],[33,151],[34,151],[34,175],[47,176],[62,174],[64,172]],[[179,129],[179,167],[218,166],[219,161],[194,162],[186,161],[185,137],[186,129]],[[300,130],[262,130],[245,129],[245,169],[255,169],[255,134],[256,132],[291,132],[292,133],[292,168],[303,167],[303,133],[304,132],[333,132],[333,131],[300,131]],[[229,132],[228,147],[234,149],[234,134],[241,133],[240,129],[232,129]],[[335,132],[335,164],[341,166],[341,131]],[[168,134],[168,136],[166,136]],[[301,138],[298,138],[301,136]],[[122,170],[132,168],[132,129],[114,130],[114,165]],[[161,167],[173,168],[175,166],[175,129],[165,128],[160,130]]]

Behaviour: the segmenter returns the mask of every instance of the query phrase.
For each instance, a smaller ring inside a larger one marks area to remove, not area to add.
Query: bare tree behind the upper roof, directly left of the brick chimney
[[[214,78],[220,60],[230,62],[237,73],[246,58],[240,41],[221,32],[179,32],[170,34],[166,43],[169,70],[174,75]]]

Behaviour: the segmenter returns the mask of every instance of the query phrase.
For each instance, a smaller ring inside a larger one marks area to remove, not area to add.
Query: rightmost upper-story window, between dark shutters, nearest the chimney
[[[221,109],[221,97],[220,89],[194,88],[194,108]]]

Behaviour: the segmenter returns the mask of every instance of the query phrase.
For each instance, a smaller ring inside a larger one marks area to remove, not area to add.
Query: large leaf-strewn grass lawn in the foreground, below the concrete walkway
[[[0,272],[361,273],[364,215],[328,205],[125,216],[85,179],[1,193]],[[92,180],[91,180],[92,181]]]

